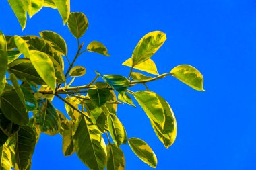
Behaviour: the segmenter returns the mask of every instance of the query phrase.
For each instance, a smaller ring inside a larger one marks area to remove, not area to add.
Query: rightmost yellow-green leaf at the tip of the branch
[[[203,75],[201,75],[195,67],[192,67],[191,65],[179,65],[174,67],[170,73],[193,89],[205,91],[203,89]]]

